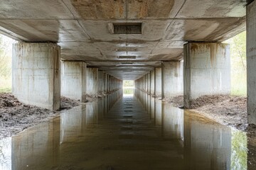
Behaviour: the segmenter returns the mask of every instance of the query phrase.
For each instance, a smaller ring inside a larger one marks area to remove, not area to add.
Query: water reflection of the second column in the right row
[[[163,136],[171,139],[183,140],[183,110],[170,104],[162,106]]]

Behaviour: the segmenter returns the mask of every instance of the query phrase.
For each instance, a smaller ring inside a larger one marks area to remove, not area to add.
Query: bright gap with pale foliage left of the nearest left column
[[[15,40],[0,34],[0,93],[11,92],[11,55]]]

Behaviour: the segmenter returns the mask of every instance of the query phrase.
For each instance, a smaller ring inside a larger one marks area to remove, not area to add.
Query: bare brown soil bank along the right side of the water
[[[183,107],[183,96],[164,98],[166,103]],[[256,126],[247,123],[247,98],[230,95],[206,95],[191,101],[191,109],[216,122],[247,131],[256,136]]]

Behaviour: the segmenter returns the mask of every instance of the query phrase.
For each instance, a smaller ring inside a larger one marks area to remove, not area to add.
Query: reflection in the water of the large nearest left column
[[[40,130],[38,130],[40,129]],[[12,169],[51,169],[59,164],[60,119],[55,118],[12,137]]]

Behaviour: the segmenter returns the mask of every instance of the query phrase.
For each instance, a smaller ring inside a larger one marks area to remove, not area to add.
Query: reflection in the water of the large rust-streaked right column
[[[230,169],[231,130],[185,113],[184,158],[187,169]]]

